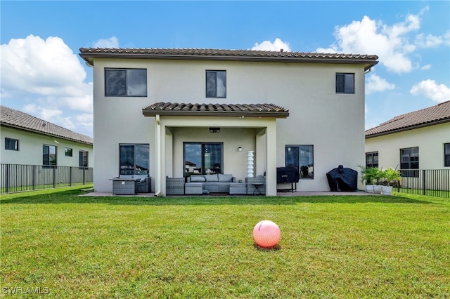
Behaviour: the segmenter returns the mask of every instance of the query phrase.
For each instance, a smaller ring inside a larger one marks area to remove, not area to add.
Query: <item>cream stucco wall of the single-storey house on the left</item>
[[[0,162],[2,164],[42,165],[42,145],[53,145],[56,146],[58,166],[79,166],[79,151],[88,152],[88,165],[89,167],[94,166],[92,145],[6,126],[1,126],[0,136]],[[19,140],[19,150],[5,150],[5,138]],[[72,148],[72,157],[65,156],[65,147]]]

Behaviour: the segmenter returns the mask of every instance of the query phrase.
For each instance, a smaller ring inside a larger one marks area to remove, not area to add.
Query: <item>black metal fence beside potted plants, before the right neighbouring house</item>
[[[450,169],[401,169],[397,192],[450,198]]]

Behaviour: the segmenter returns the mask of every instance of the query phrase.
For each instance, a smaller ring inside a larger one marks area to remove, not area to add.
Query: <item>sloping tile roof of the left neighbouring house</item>
[[[1,105],[0,107],[1,126],[20,128],[26,131],[51,135],[59,138],[86,143],[89,145],[92,145],[94,143],[94,140],[88,135],[70,131],[67,128],[57,126],[56,124],[51,124],[48,121],[38,119],[37,117],[32,117],[29,114],[5,107],[3,105]]]

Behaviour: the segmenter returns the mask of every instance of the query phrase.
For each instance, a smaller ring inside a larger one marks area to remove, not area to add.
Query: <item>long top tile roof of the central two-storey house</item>
[[[221,50],[205,48],[79,48],[89,65],[93,58],[154,58],[184,60],[241,60],[272,62],[359,63],[366,69],[378,63],[377,55],[285,51]]]

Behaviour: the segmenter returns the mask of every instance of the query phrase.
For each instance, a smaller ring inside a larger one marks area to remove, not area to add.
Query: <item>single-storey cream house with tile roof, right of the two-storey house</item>
[[[399,115],[366,131],[366,166],[450,169],[450,101]]]

